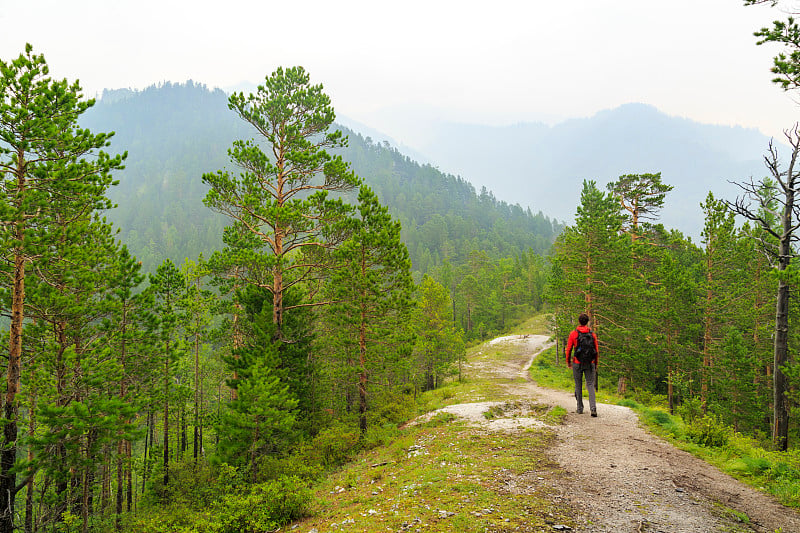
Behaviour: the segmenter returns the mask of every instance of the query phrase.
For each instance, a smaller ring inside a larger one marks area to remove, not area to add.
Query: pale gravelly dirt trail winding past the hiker
[[[560,405],[569,413],[565,423],[554,428],[557,439],[551,450],[565,475],[551,482],[581,515],[579,531],[800,533],[800,514],[650,435],[630,409],[598,404],[597,418],[579,415],[572,394],[517,380],[527,379],[527,369],[547,347],[547,337],[492,342],[506,343],[512,356],[499,366],[473,365],[473,373],[505,383],[514,396]],[[486,405],[447,409],[480,420]],[[749,522],[739,521],[726,508],[746,515]]]

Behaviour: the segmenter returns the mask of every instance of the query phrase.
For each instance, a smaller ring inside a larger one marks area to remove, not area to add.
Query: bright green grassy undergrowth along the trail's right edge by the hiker
[[[545,387],[561,390],[574,387],[563,358],[556,362],[555,348],[536,358],[531,365],[531,378]],[[733,477],[773,494],[784,505],[800,508],[800,449],[786,452],[767,449],[761,441],[735,432],[714,416],[698,415],[691,411],[691,406],[686,412],[679,408],[672,415],[660,397],[649,396],[638,401],[620,398],[603,388],[602,367],[597,399],[630,407],[653,433]]]

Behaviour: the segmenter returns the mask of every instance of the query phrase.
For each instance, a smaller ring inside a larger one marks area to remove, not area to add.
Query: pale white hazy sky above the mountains
[[[785,15],[742,3],[0,0],[0,58],[30,42],[87,95],[187,79],[224,88],[299,64],[337,114],[383,130],[411,110],[501,125],[643,102],[780,135],[800,95],[770,83],[778,49],[752,34]]]

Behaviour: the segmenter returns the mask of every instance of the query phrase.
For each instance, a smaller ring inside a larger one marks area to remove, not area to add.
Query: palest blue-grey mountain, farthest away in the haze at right
[[[627,104],[552,126],[437,123],[418,142],[407,142],[444,172],[567,222],[584,179],[604,187],[623,174],[661,172],[675,188],[660,222],[698,238],[700,202],[709,191],[732,200],[738,188],[730,181],[765,175],[769,138],[755,129],[700,124]]]

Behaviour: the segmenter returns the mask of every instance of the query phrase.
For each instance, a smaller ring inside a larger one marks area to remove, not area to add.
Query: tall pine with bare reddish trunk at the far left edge
[[[19,385],[25,322],[27,267],[53,237],[54,209],[65,203],[86,211],[110,206],[105,190],[122,157],[103,148],[109,135],[78,127],[78,117],[94,104],[83,101],[77,83],[48,77],[44,57],[27,45],[17,59],[0,61],[0,249],[3,286],[11,296],[9,355],[5,369],[0,443],[0,532],[14,529],[18,449]],[[56,200],[56,201],[54,201]]]

